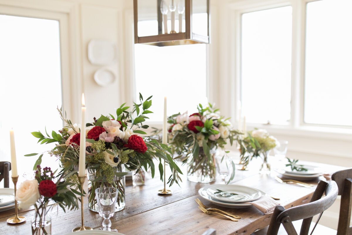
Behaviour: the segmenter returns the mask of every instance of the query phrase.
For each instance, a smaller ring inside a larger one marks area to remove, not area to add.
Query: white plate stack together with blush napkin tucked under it
[[[218,206],[235,209],[254,206],[264,214],[270,214],[279,204],[265,192],[243,185],[208,185],[200,188],[198,193],[203,199]]]

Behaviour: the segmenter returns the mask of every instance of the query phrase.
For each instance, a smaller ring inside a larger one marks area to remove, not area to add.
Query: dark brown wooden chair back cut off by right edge
[[[351,235],[352,169],[337,171],[331,178],[337,183],[337,186],[339,187],[339,195],[341,195],[337,235]]]

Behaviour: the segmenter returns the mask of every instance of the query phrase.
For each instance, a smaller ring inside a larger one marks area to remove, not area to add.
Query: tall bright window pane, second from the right
[[[248,122],[290,120],[291,25],[290,6],[242,15],[241,97]]]

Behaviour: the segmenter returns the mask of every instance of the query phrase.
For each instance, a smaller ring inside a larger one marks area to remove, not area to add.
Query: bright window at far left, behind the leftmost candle
[[[0,32],[0,156],[10,160],[9,131],[13,128],[22,176],[32,172],[36,161],[25,154],[50,149],[37,144],[31,132],[62,128],[55,109],[62,104],[59,22],[0,15]],[[55,169],[55,160],[43,157],[43,166]]]

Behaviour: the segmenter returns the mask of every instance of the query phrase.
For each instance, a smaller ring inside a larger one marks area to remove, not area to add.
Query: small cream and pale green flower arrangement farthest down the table
[[[270,172],[270,164],[268,156],[271,149],[275,148],[278,141],[274,136],[269,135],[269,132],[264,129],[256,129],[247,133],[244,139],[248,154],[242,155],[240,163],[243,164],[243,169],[247,168],[250,160],[253,157],[262,156],[263,164],[260,172]]]

